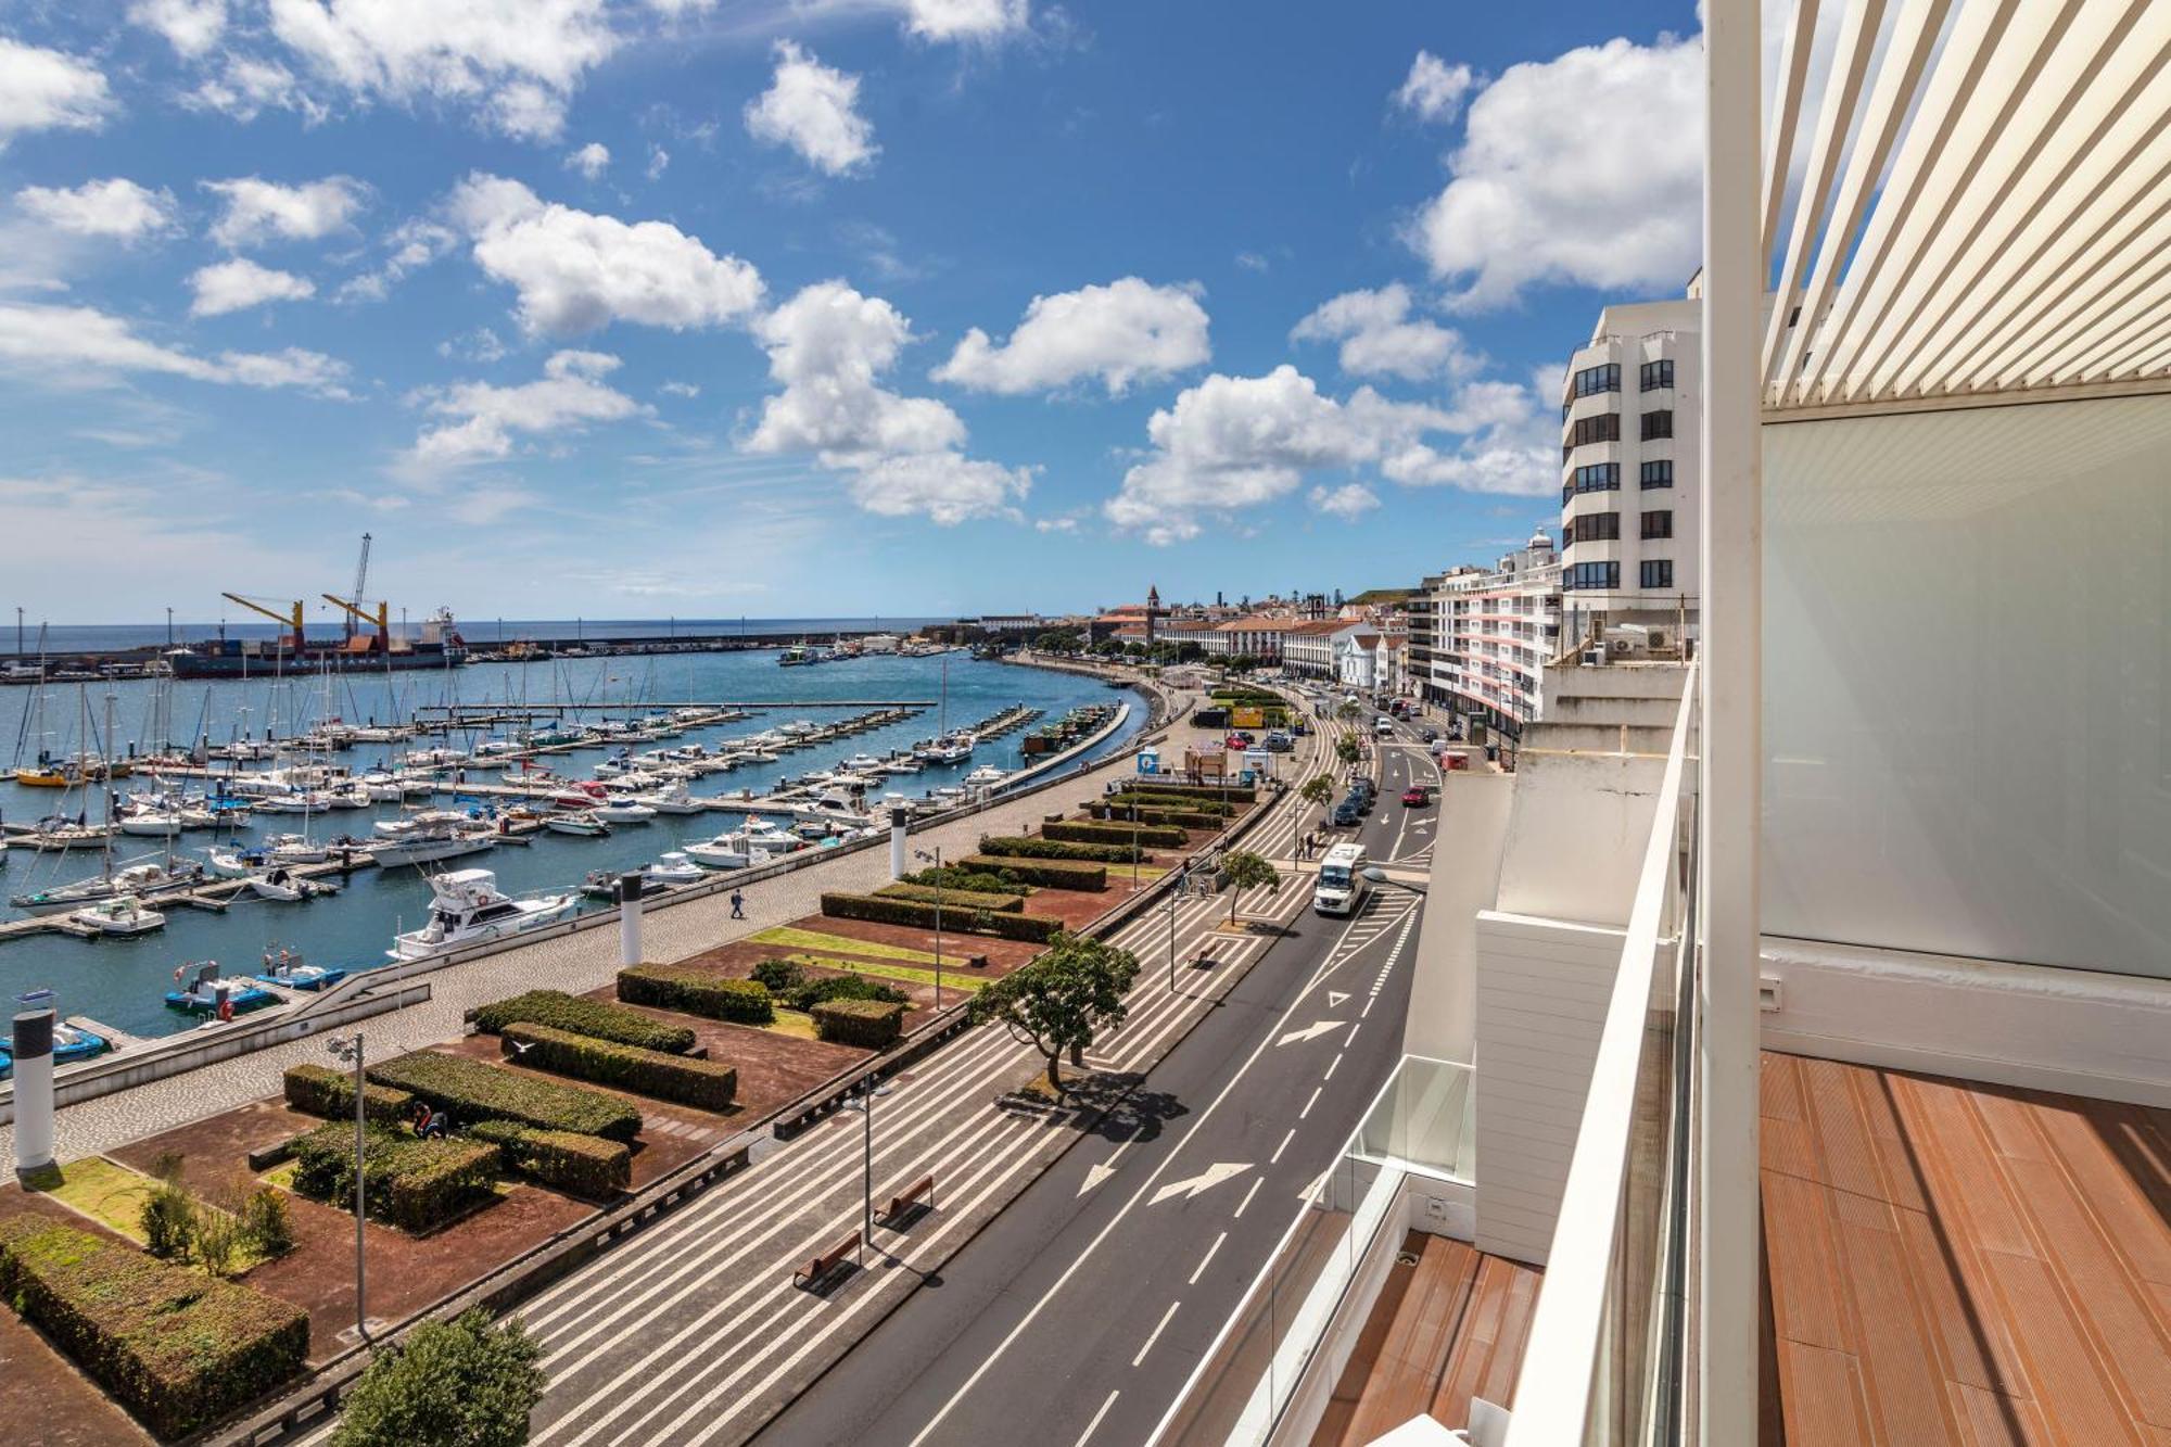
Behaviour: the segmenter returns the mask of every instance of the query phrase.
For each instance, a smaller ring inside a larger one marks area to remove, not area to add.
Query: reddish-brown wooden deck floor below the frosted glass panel
[[[2171,1112],[1767,1054],[1761,1115],[1767,1447],[2171,1447]]]

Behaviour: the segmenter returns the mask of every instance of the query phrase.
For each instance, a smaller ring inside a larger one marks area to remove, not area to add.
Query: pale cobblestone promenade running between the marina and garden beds
[[[1040,793],[996,804],[983,813],[914,830],[912,847],[942,845],[947,854],[968,854],[981,834],[1014,834],[1040,823],[1103,784],[1133,769],[1129,754],[1096,765],[1083,776],[1072,773]],[[1083,793],[1081,793],[1083,791]],[[886,884],[890,852],[860,850],[838,858],[762,880],[745,891],[747,917],[732,919],[729,893],[664,902],[643,917],[643,954],[651,960],[677,960],[756,930],[790,923],[821,910],[823,891],[866,891]],[[467,1010],[530,989],[593,991],[608,984],[619,969],[619,932],[614,928],[580,930],[538,941],[519,949],[491,954],[467,965],[426,976],[430,999],[406,1010],[378,1015],[360,1023],[371,1058],[397,1056],[439,1041],[458,1039]],[[174,1125],[200,1121],[219,1110],[276,1095],[289,1065],[326,1060],[319,1039],[291,1041],[232,1060],[219,1060],[185,1075],[156,1080],[132,1091],[87,1099],[61,1110],[54,1123],[54,1154],[76,1160],[109,1152],[126,1141]],[[15,1178],[15,1132],[0,1125],[0,1182]]]

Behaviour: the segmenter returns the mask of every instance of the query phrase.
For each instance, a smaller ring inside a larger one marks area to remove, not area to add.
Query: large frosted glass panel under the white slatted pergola
[[[2171,978],[2171,398],[1765,428],[1765,930]]]

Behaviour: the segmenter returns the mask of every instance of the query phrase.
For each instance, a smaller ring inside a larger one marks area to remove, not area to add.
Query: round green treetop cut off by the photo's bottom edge
[[[519,1447],[543,1399],[543,1345],[480,1306],[426,1321],[347,1393],[332,1447]]]

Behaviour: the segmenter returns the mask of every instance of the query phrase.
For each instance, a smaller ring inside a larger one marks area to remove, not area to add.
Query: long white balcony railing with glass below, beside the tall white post
[[[1696,965],[1693,928],[1680,908],[1696,876],[1696,832],[1685,808],[1693,797],[1696,674],[1691,665],[1674,715],[1674,743],[1643,845],[1620,973],[1607,1004],[1546,1280],[1515,1377],[1507,1447],[1609,1447],[1641,1440],[1652,1401],[1652,1358],[1663,1349],[1663,1338],[1678,1332],[1678,1312],[1652,1310],[1663,1306],[1659,1262],[1678,1260],[1665,1243],[1678,1236],[1665,1223],[1637,1219],[1643,1201],[1630,1191],[1630,1156],[1639,1108],[1659,1106],[1674,1115],[1676,1106],[1669,1102],[1680,1099],[1680,1071],[1693,1060],[1676,1052],[1672,1041],[1665,1049],[1652,1049],[1650,1019],[1654,1004],[1672,1012],[1680,997],[1693,999],[1693,991],[1678,991],[1678,978],[1661,980],[1659,967],[1665,962],[1693,971]],[[1680,943],[1672,945],[1669,936],[1676,934]],[[1683,1030],[1689,1030],[1685,1017],[1674,1023],[1674,1039]],[[1678,1115],[1665,1134],[1672,1152],[1685,1149],[1687,1132]],[[1667,1197],[1656,1215],[1680,1219],[1687,1201],[1678,1182],[1685,1178],[1674,1165],[1676,1158],[1669,1158],[1654,1171]],[[1654,1245],[1633,1245],[1643,1238]],[[1643,1321],[1659,1325],[1646,1330]]]

